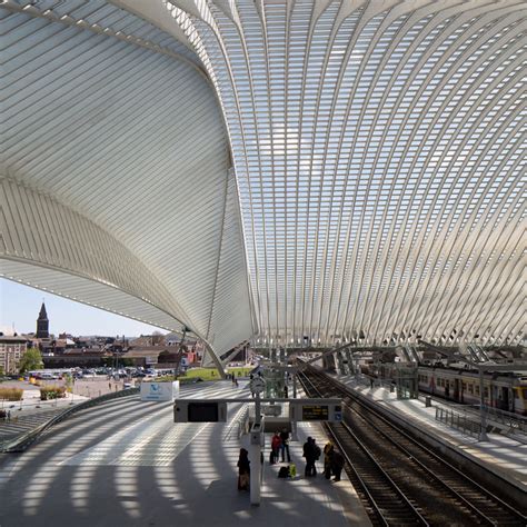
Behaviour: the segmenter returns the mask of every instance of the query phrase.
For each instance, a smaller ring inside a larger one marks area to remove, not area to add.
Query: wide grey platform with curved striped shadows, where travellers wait
[[[228,381],[181,391],[186,398],[248,396]],[[0,525],[369,525],[345,476],[338,484],[304,477],[305,438],[326,441],[318,425],[300,425],[290,445],[299,476],[279,479],[278,466],[265,463],[261,504],[251,506],[249,493],[237,489],[241,408],[230,405],[227,424],[182,425],[172,422],[171,404],[138,397],[80,411],[28,451],[0,456]]]

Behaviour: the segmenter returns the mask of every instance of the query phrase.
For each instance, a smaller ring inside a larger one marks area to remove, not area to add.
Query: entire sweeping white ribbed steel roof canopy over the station
[[[2,274],[265,346],[523,338],[523,0],[9,0]]]

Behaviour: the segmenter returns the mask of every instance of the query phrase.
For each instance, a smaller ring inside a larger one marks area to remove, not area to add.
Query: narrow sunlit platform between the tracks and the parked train
[[[369,380],[366,378],[341,375],[337,375],[335,378],[384,408],[401,416],[406,422],[412,422],[432,434],[473,461],[509,481],[520,491],[527,493],[527,445],[499,434],[488,434],[488,441],[479,441],[475,437],[464,435],[437,421],[435,407],[441,405],[437,400],[434,400],[432,407],[427,408],[424,397],[398,400],[397,395],[390,392],[388,388],[378,385],[370,388]]]

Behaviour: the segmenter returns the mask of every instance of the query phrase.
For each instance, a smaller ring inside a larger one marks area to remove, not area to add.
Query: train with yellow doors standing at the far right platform
[[[394,365],[366,365],[362,371],[395,379]],[[466,405],[479,405],[479,374],[458,366],[418,366],[419,391]],[[485,405],[499,410],[527,416],[527,375],[520,372],[485,372]]]

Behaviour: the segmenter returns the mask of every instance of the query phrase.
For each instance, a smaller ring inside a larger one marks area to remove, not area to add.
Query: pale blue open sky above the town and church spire
[[[56,336],[68,332],[73,336],[139,337],[151,335],[152,331],[167,332],[3,278],[0,278],[0,331],[12,335],[14,325],[14,331],[18,334],[34,332],[42,300],[48,312],[49,331]]]

